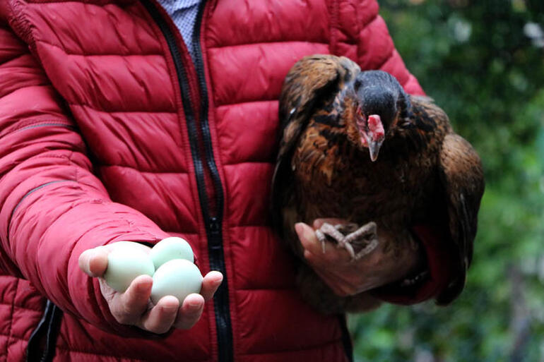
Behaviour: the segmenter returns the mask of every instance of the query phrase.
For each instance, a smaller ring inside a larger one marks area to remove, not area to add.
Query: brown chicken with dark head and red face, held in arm
[[[281,239],[304,260],[294,224],[345,219],[350,224],[324,224],[316,234],[357,260],[384,241],[396,255],[417,243],[414,225],[440,225],[457,270],[437,303],[456,298],[471,262],[484,180],[480,158],[444,111],[430,98],[407,95],[389,73],[314,55],[291,68],[279,112],[272,207]],[[304,263],[297,279],[304,298],[324,313],[376,304],[367,293],[336,296]]]

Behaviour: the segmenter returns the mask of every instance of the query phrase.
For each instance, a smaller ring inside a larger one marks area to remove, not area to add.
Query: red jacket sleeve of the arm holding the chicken
[[[353,9],[355,16],[353,15]],[[391,73],[403,88],[412,95],[425,95],[418,80],[408,71],[395,49],[384,19],[378,14],[375,0],[341,1],[338,8],[339,21],[343,28],[352,29],[355,35],[355,50],[350,44],[338,44],[346,47],[346,52],[354,52],[353,57],[361,69],[381,69]],[[339,36],[340,41],[342,35]],[[394,283],[374,291],[374,295],[384,301],[400,304],[413,304],[430,298],[437,298],[454,278],[454,266],[451,263],[453,251],[448,250],[443,242],[444,231],[432,225],[413,227],[414,236],[419,239],[427,259],[427,273],[410,286],[401,287]]]

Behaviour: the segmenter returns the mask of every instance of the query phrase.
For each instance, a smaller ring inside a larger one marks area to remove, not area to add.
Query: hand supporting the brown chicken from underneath
[[[295,230],[307,263],[338,296],[351,296],[395,282],[417,270],[422,263],[417,248],[406,247],[395,252],[393,248],[387,248],[388,238],[380,230],[377,248],[359,260],[352,260],[348,251],[329,242],[323,252],[315,229],[324,222],[347,224],[341,219],[316,219],[314,228],[300,222],[295,224]]]

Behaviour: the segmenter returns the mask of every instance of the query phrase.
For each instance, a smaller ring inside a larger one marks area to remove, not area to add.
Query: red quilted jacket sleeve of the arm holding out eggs
[[[0,255],[10,272],[102,330],[146,335],[114,320],[78,257],[114,241],[165,237],[140,212],[110,200],[61,99],[0,18]]]

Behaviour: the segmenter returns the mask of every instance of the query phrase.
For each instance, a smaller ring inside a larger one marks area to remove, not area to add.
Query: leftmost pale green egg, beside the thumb
[[[139,275],[153,277],[153,260],[144,250],[146,246],[131,241],[119,242],[107,255],[106,283],[119,292],[124,292]]]

